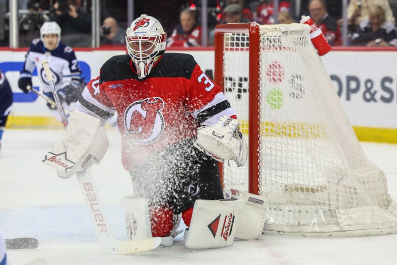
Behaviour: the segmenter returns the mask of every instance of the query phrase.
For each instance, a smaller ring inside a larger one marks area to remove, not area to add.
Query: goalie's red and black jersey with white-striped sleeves
[[[145,79],[138,79],[129,55],[111,58],[75,108],[103,120],[117,111],[123,165],[129,171],[150,153],[195,137],[200,125],[235,117],[221,89],[193,57],[177,53],[165,53]]]

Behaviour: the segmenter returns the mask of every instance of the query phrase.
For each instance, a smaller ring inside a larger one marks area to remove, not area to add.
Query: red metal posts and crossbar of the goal
[[[248,192],[259,194],[260,184],[260,29],[256,22],[219,24],[215,27],[215,67],[214,82],[224,90],[224,34],[249,33],[249,111],[248,111]],[[238,117],[238,113],[237,113]],[[221,183],[223,176],[221,168]]]

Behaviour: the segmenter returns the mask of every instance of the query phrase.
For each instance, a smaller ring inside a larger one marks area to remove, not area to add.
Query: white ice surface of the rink
[[[0,153],[0,228],[6,238],[36,237],[35,250],[8,250],[11,265],[41,258],[49,265],[136,264],[397,264],[397,235],[310,239],[262,236],[223,249],[189,250],[177,237],[171,248],[131,256],[105,254],[97,243],[77,180],[63,180],[40,162],[62,130],[6,130]],[[126,238],[120,199],[131,193],[129,174],[121,166],[121,142],[109,130],[111,146],[92,167],[111,231]],[[388,177],[397,199],[397,145],[362,143],[367,156]]]

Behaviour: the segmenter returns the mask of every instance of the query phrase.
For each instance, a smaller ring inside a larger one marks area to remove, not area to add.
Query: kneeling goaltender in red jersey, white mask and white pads
[[[44,162],[61,178],[98,164],[109,145],[104,124],[117,112],[133,186],[122,201],[131,240],[161,237],[172,245],[181,215],[187,248],[260,237],[265,199],[237,190],[224,199],[217,161],[243,166],[247,143],[221,89],[191,55],[165,53],[166,33],[154,17],[135,19],[126,42],[128,55],[109,59],[87,84]]]

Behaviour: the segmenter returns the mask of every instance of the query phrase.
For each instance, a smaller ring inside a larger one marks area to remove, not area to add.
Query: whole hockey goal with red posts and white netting
[[[215,75],[248,138],[249,161],[224,163],[223,187],[268,200],[266,233],[397,232],[385,174],[364,154],[302,24],[215,28]]]

